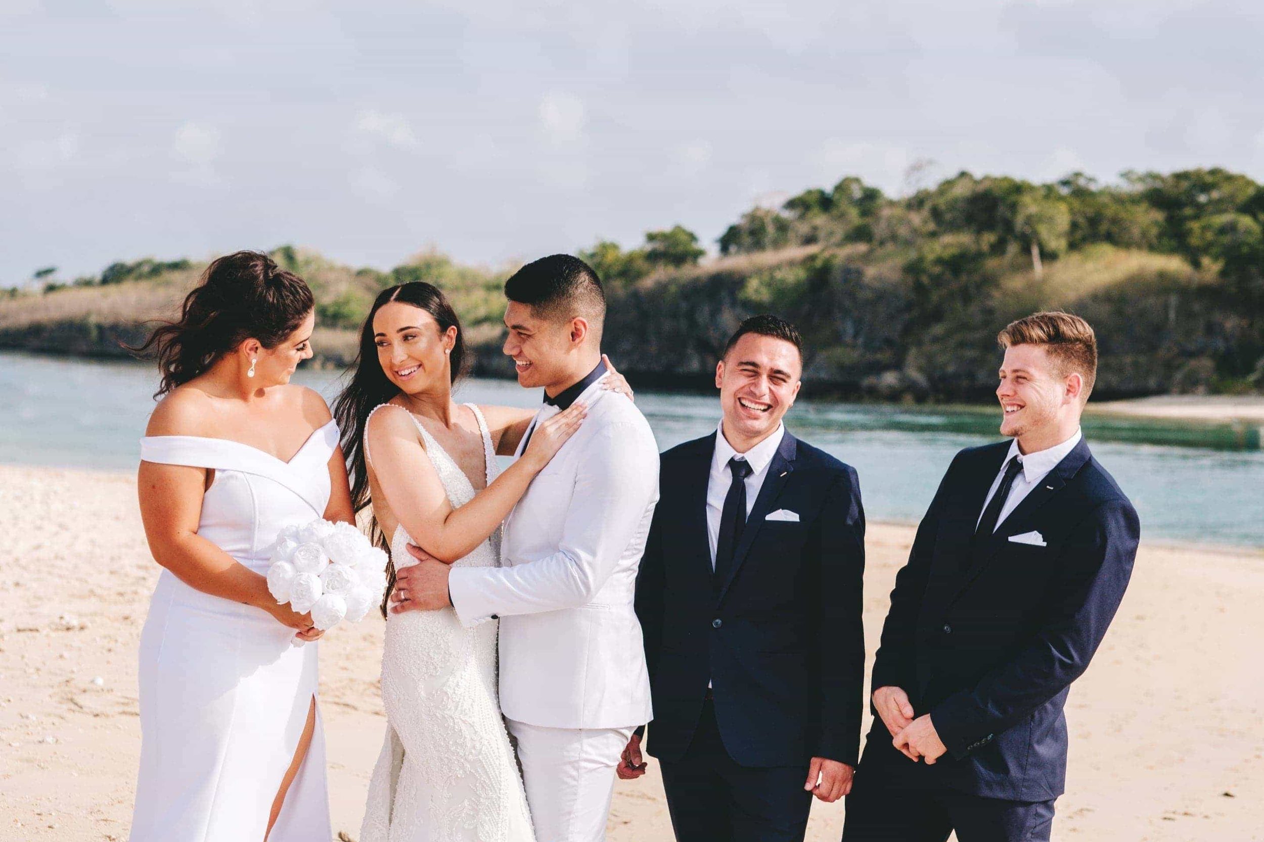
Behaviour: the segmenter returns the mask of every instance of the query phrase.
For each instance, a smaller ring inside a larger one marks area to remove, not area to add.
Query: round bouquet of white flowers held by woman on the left
[[[313,520],[277,535],[268,567],[268,591],[312,625],[329,631],[341,620],[359,622],[382,601],[387,554],[351,524]]]

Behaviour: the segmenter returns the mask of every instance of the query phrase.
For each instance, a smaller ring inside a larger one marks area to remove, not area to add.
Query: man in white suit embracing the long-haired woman
[[[518,384],[544,386],[527,429],[576,400],[588,417],[504,521],[502,567],[449,567],[410,548],[401,610],[451,605],[473,626],[501,619],[501,709],[518,744],[538,842],[605,838],[614,768],[650,718],[633,610],[637,567],[659,499],[659,448],[624,395],[598,386],[605,295],[569,255],[504,284],[504,352]]]

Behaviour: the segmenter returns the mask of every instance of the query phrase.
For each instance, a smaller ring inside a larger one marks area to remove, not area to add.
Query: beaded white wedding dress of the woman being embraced
[[[487,420],[474,404],[483,437],[487,482],[497,475]],[[373,412],[391,406],[383,404]],[[370,413],[372,417],[372,413]],[[410,414],[411,417],[411,414]],[[477,494],[456,462],[416,418],[426,453],[453,507]],[[372,457],[365,442],[365,456]],[[397,526],[391,558],[415,564]],[[499,528],[454,567],[499,567]],[[451,608],[408,611],[387,619],[382,701],[387,735],[365,805],[360,842],[533,842],[531,815],[497,694],[497,621],[465,629]]]

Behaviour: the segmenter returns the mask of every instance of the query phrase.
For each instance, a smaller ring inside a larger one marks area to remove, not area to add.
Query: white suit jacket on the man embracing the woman
[[[659,447],[626,396],[599,381],[588,417],[504,521],[502,567],[456,567],[465,626],[501,617],[501,709],[552,728],[652,718],[636,574],[659,500]],[[556,414],[545,406],[535,424]]]

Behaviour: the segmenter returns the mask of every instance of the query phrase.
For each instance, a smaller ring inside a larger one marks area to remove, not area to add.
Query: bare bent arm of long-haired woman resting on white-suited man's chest
[[[540,424],[522,457],[459,509],[449,502],[407,410],[374,413],[365,437],[373,453],[373,473],[391,511],[418,547],[451,563],[495,531],[536,473],[579,429],[585,414],[586,408],[575,404]]]

